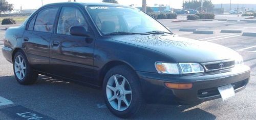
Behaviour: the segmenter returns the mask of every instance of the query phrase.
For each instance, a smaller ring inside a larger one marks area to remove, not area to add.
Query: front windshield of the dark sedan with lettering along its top
[[[170,33],[162,24],[138,9],[115,6],[86,7],[102,35],[111,33]]]

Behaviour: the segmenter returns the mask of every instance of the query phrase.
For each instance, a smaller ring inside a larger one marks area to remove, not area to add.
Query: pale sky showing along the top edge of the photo
[[[73,1],[73,0],[72,0]],[[102,0],[76,0],[77,2],[101,2]],[[117,0],[121,5],[135,4],[141,6],[142,0]],[[184,0],[188,1],[188,0]],[[41,0],[7,0],[10,4],[14,4],[14,9],[38,9],[41,7]],[[43,4],[68,2],[68,0],[42,0]],[[212,0],[214,4],[229,4],[230,0]],[[153,6],[154,4],[170,5],[173,8],[182,8],[183,0],[147,0],[147,6]],[[232,4],[256,4],[256,0],[231,0]]]

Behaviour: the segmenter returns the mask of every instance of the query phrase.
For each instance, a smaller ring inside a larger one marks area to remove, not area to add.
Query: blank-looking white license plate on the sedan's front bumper
[[[221,94],[221,98],[223,101],[234,96],[234,88],[231,84],[218,87],[218,90]]]

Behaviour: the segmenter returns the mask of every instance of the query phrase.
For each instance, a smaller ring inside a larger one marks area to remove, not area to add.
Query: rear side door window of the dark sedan
[[[53,24],[57,14],[58,8],[47,8],[40,11],[36,17],[34,31],[39,32],[53,32]]]

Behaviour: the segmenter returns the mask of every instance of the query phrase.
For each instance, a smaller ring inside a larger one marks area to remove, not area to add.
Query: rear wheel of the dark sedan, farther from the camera
[[[17,82],[23,85],[33,84],[38,78],[23,51],[17,51],[13,57],[13,72]]]

